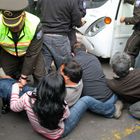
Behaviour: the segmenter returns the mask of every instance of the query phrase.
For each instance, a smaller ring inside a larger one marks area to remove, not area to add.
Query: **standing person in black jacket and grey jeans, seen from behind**
[[[43,24],[46,71],[50,72],[53,60],[59,68],[63,58],[71,56],[68,33],[73,26],[82,26],[82,15],[76,0],[38,0],[37,13]]]

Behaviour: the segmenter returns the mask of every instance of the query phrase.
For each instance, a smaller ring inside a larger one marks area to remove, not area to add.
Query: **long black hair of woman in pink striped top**
[[[65,110],[65,96],[65,81],[60,73],[52,72],[41,80],[33,104],[33,110],[41,126],[50,130],[58,128]]]

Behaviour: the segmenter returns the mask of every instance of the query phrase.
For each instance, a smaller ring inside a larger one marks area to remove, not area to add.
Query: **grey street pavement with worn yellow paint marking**
[[[112,72],[107,62],[103,63],[103,68],[106,76],[111,77]],[[33,131],[24,112],[0,113],[0,140],[44,139]],[[132,118],[127,109],[123,110],[118,120],[87,112],[77,127],[62,140],[140,140],[140,121]]]

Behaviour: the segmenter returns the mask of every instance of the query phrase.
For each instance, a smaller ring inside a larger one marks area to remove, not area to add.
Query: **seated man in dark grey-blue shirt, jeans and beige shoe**
[[[74,47],[75,60],[83,70],[82,96],[92,97],[90,110],[109,118],[119,118],[123,104],[107,86],[105,75],[98,58],[87,53],[85,46],[77,43]]]

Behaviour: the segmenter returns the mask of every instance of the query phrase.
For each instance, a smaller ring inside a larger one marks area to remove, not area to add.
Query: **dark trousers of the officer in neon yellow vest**
[[[43,61],[43,55],[38,56],[36,61],[36,68],[32,71],[33,84],[36,86],[42,77],[45,75],[45,66],[40,63]],[[3,68],[6,75],[11,76],[13,79],[19,79],[23,67],[24,56],[16,57],[7,53],[2,48],[0,49],[0,67]],[[27,67],[28,69],[28,67]]]

